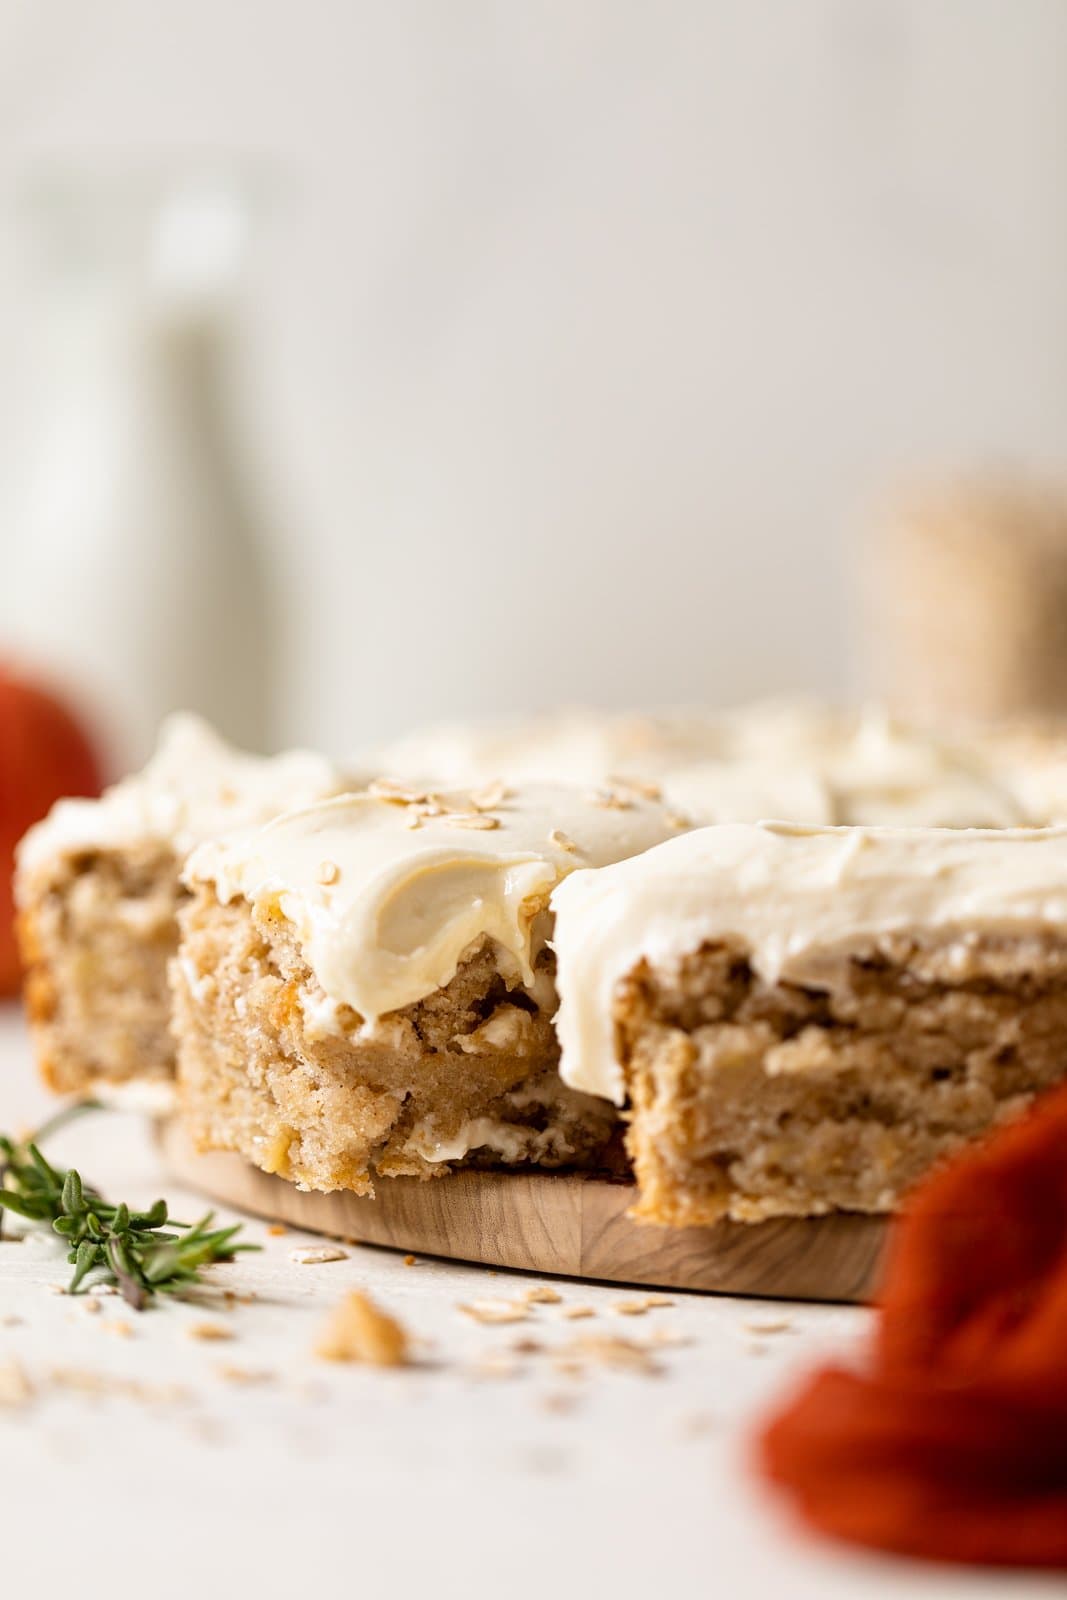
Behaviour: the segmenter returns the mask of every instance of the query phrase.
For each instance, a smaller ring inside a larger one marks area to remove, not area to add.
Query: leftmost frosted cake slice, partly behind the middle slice
[[[16,867],[19,944],[51,1088],[173,1074],[166,963],[186,856],[214,834],[342,787],[320,755],[243,755],[181,714],[144,771],[99,800],[61,800],[30,829]]]

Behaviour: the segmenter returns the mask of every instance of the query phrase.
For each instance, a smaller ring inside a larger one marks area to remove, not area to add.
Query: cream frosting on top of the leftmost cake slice
[[[19,845],[19,869],[77,850],[165,840],[186,854],[203,838],[266,822],[278,811],[350,787],[312,750],[259,757],[235,750],[200,717],[178,712],[160,730],[155,755],[99,800],[59,800]]]

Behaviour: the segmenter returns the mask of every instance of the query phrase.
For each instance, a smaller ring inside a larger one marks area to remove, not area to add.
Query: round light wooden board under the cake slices
[[[654,1227],[627,1216],[630,1184],[552,1173],[390,1178],[373,1200],[302,1194],[238,1155],[200,1155],[174,1122],[160,1123],[158,1136],[176,1178],[254,1216],[349,1242],[573,1278],[864,1301],[886,1232],[883,1218],[851,1214]]]

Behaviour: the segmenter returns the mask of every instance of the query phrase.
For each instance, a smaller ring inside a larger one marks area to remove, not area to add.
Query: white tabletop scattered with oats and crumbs
[[[50,1109],[21,1018],[0,1011],[0,1125],[21,1130]],[[186,1219],[203,1210],[168,1179],[138,1117],[86,1118],[51,1149],[114,1198],[166,1194]],[[566,1322],[558,1306],[536,1306],[525,1323],[485,1326],[458,1302],[515,1298],[537,1280],[405,1266],[370,1246],[298,1266],[290,1251],[314,1243],[307,1235],[250,1222],[248,1237],[262,1254],[218,1278],[256,1299],[221,1314],[168,1304],[136,1315],[104,1298],[93,1315],[54,1293],[69,1270],[58,1242],[0,1243],[0,1363],[14,1358],[35,1387],[29,1405],[0,1410],[5,1592],[34,1571],[53,1594],[67,1581],[101,1595],[1064,1592],[1056,1579],[814,1541],[753,1480],[753,1419],[790,1374],[861,1339],[862,1310],[784,1307],[789,1328],[757,1334],[750,1325],[776,1312],[766,1302],[673,1294],[670,1307],[622,1317],[613,1306],[633,1298],[625,1290],[558,1280],[565,1302],[597,1317]],[[426,1341],[418,1366],[315,1358],[320,1323],[352,1286]],[[232,1339],[192,1338],[205,1320],[226,1322]],[[581,1334],[661,1328],[688,1342],[657,1352],[659,1376],[552,1366],[550,1347]],[[545,1352],[514,1358],[512,1376],[480,1371],[528,1338]],[[126,1379],[134,1394],[122,1392]]]

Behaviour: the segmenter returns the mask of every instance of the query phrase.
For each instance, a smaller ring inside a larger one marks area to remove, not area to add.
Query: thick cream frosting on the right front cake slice
[[[1067,930],[1067,827],[723,824],[673,838],[552,896],[561,1077],[621,1104],[613,1006],[641,958],[736,941],[768,984],[827,987],[843,949],[878,934]]]

